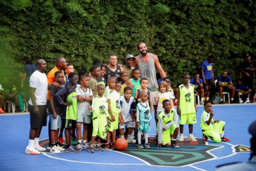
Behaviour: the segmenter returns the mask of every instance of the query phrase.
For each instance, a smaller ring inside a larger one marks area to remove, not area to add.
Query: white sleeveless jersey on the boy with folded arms
[[[80,95],[83,97],[90,97],[93,96],[93,91],[89,88],[84,91],[81,87],[76,88],[76,95]],[[88,106],[91,105],[89,101],[77,102],[77,115],[92,115],[88,109]]]

